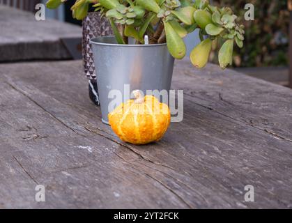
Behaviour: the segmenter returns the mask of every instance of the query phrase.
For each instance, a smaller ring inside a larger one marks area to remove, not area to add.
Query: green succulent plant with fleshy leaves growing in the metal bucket
[[[64,1],[49,0],[47,7],[56,8]],[[234,43],[243,47],[244,26],[236,22],[231,8],[211,6],[207,0],[76,0],[73,17],[82,20],[90,5],[109,19],[117,43],[127,44],[128,38],[134,38],[144,44],[147,34],[151,44],[167,43],[176,59],[186,54],[183,38],[200,29],[202,42],[190,55],[197,68],[206,66],[213,41],[224,40],[218,56],[222,68],[232,63]]]

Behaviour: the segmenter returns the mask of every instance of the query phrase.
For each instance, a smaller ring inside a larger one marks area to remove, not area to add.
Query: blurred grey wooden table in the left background
[[[62,40],[82,38],[79,26],[36,21],[33,13],[0,5],[0,62],[71,59]]]

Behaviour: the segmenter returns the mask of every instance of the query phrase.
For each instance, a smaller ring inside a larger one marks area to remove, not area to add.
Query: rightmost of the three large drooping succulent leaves
[[[233,42],[234,40],[226,40],[219,51],[219,63],[223,69],[228,65],[232,65]]]

